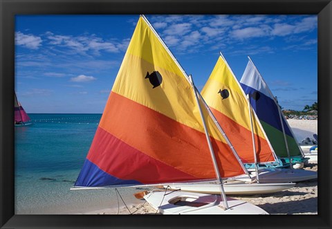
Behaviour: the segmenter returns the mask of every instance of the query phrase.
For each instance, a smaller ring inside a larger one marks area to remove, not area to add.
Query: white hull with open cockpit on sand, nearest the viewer
[[[228,198],[224,210],[219,195],[190,192],[150,192],[144,199],[161,214],[268,214],[265,210],[237,199]]]

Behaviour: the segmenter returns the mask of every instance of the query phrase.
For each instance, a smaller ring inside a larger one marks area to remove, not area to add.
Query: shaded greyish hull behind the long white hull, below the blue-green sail
[[[252,172],[252,180],[256,179],[256,172]],[[291,169],[274,169],[259,170],[259,183],[288,183],[308,181],[317,178],[317,172],[309,170],[291,170]],[[238,180],[248,181],[248,176],[237,176]]]

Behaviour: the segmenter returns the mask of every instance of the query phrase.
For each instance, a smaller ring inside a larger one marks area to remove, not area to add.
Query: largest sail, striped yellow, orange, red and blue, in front
[[[243,174],[206,109],[203,116],[221,176]],[[192,85],[140,17],[75,187],[215,178]]]

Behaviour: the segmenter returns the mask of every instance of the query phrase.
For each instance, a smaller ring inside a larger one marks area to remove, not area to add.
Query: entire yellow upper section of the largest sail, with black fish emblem
[[[204,132],[190,82],[142,17],[112,91]]]

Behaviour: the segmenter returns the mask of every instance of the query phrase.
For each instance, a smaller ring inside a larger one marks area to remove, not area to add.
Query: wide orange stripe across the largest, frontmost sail
[[[100,127],[147,156],[186,174],[197,178],[215,177],[204,133],[122,95],[111,92]],[[227,158],[222,154],[230,151],[228,145],[214,139],[212,141],[216,153],[219,152],[221,157],[221,176],[243,174],[239,166],[234,166],[238,163],[235,157]],[[227,174],[223,171],[225,167],[226,171],[230,171]]]

